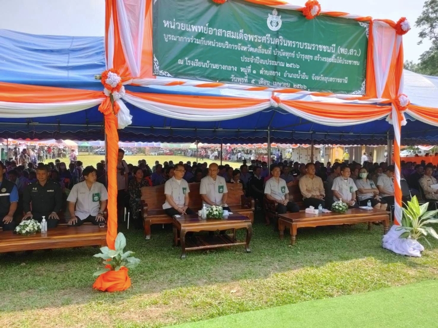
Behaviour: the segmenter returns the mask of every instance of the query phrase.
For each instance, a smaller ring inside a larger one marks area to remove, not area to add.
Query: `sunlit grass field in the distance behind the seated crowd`
[[[96,163],[100,162],[101,160],[105,160],[105,156],[104,155],[88,155],[88,153],[79,153],[79,155],[77,156],[77,160],[80,160],[82,163],[84,163],[84,167],[88,166],[88,165],[92,165],[92,166],[96,166]],[[169,161],[169,160],[173,160],[174,163],[179,162],[179,161],[183,161],[184,163],[186,163],[187,161],[190,162],[196,162],[196,157],[186,157],[186,156],[179,156],[179,155],[174,155],[174,156],[165,156],[165,155],[160,155],[160,156],[152,156],[152,155],[130,155],[130,156],[125,156],[124,159],[126,160],[126,162],[128,164],[133,164],[133,165],[137,165],[138,161],[140,159],[146,159],[146,163],[150,166],[150,168],[152,168],[152,166],[155,165],[155,161],[158,160],[161,164],[163,164],[165,161]],[[65,158],[66,163],[68,162],[68,158]],[[201,161],[201,159],[199,159]],[[47,160],[46,162],[54,162],[55,160]],[[201,161],[201,163],[203,162],[207,162],[208,164],[215,162],[212,161],[210,159],[204,159]],[[216,161],[216,163],[220,163],[219,161]],[[229,164],[231,167],[237,169],[240,168],[241,163],[237,163],[237,162],[226,162],[223,161],[222,162],[223,165],[225,164]]]

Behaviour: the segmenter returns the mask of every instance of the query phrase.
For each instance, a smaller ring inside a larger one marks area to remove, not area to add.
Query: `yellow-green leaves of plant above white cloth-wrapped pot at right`
[[[438,219],[435,217],[438,210],[427,211],[429,203],[420,206],[417,200],[417,196],[412,197],[410,202],[407,202],[406,207],[402,208],[403,217],[402,225],[396,230],[406,230],[400,235],[400,238],[410,238],[419,240],[424,238],[424,240],[429,244],[426,239],[427,235],[431,235],[435,239],[438,239],[438,234],[434,228],[426,226],[427,224],[438,223]]]

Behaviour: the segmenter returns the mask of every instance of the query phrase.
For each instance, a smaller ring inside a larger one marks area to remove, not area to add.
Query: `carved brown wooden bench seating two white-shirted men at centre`
[[[202,198],[199,193],[200,185],[200,183],[189,184],[190,201],[188,205],[195,212],[202,208]],[[227,183],[227,189],[227,205],[231,211],[245,215],[251,219],[251,222],[254,222],[254,199],[245,197],[241,184]],[[164,185],[142,188],[142,216],[146,239],[150,239],[150,226],[152,224],[172,224],[172,218],[163,209],[165,201]]]

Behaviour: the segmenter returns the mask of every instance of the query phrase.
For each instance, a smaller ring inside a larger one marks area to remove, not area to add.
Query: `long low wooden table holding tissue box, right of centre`
[[[345,214],[335,212],[309,214],[304,211],[297,213],[278,214],[278,229],[280,230],[280,239],[284,239],[284,229],[289,227],[291,231],[291,244],[296,241],[296,230],[302,227],[317,227],[321,225],[341,225],[368,223],[368,230],[371,230],[372,222],[383,223],[383,233],[388,232],[389,212],[372,209],[366,210],[361,208],[352,208]]]

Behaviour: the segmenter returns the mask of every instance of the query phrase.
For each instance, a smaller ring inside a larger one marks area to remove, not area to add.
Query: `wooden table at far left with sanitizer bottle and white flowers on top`
[[[94,245],[103,247],[107,245],[106,237],[107,227],[101,228],[98,225],[57,226],[47,233],[37,232],[31,236],[0,231],[0,253]]]

